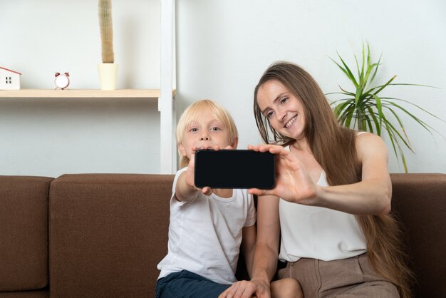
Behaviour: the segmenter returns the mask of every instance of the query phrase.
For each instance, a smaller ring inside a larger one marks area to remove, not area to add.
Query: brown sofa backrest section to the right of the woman
[[[408,244],[415,297],[446,293],[446,175],[392,174],[392,210]]]

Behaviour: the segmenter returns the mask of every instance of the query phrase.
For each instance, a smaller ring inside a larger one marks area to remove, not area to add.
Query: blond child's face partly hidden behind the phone
[[[182,156],[191,158],[193,150],[212,148],[215,145],[224,149],[227,145],[237,147],[237,140],[230,143],[229,129],[221,120],[212,116],[210,111],[203,111],[197,120],[187,125],[182,137],[182,143],[178,145]]]

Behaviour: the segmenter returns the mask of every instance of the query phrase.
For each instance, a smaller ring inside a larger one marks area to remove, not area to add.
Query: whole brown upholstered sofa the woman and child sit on
[[[0,176],[0,297],[155,297],[172,178]],[[392,182],[415,297],[445,297],[446,174]]]

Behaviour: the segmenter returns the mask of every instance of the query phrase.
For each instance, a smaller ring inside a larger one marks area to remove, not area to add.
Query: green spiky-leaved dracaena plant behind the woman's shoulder
[[[382,93],[389,86],[432,86],[393,83],[396,76],[393,76],[382,85],[373,84],[376,73],[378,73],[378,68],[381,65],[381,56],[378,59],[378,62],[373,63],[370,58],[370,47],[368,44],[366,50],[363,44],[361,66],[355,55],[356,75],[353,74],[351,68],[347,66],[346,62],[339,54],[338,58],[340,60],[339,62],[336,62],[333,58],[331,58],[331,61],[336,63],[354,86],[350,91],[339,86],[341,92],[326,94],[336,94],[342,97],[331,103],[331,107],[338,118],[339,123],[348,128],[368,131],[370,133],[376,133],[377,135],[381,135],[383,131],[387,133],[398,162],[401,161],[401,163],[403,163],[405,173],[408,173],[408,165],[405,160],[403,148],[408,148],[412,152],[413,148],[410,145],[408,134],[400,115],[408,115],[410,119],[414,120],[422,128],[427,130],[430,135],[432,135],[432,130],[436,132],[437,130],[430,125],[427,125],[427,123],[413,115],[413,113],[410,113],[403,105],[413,106],[437,119],[440,118],[405,99],[386,97],[383,96]]]

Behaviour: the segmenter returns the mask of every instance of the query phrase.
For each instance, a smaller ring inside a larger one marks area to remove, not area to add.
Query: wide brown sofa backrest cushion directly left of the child
[[[173,175],[62,175],[49,198],[53,297],[154,297]]]

